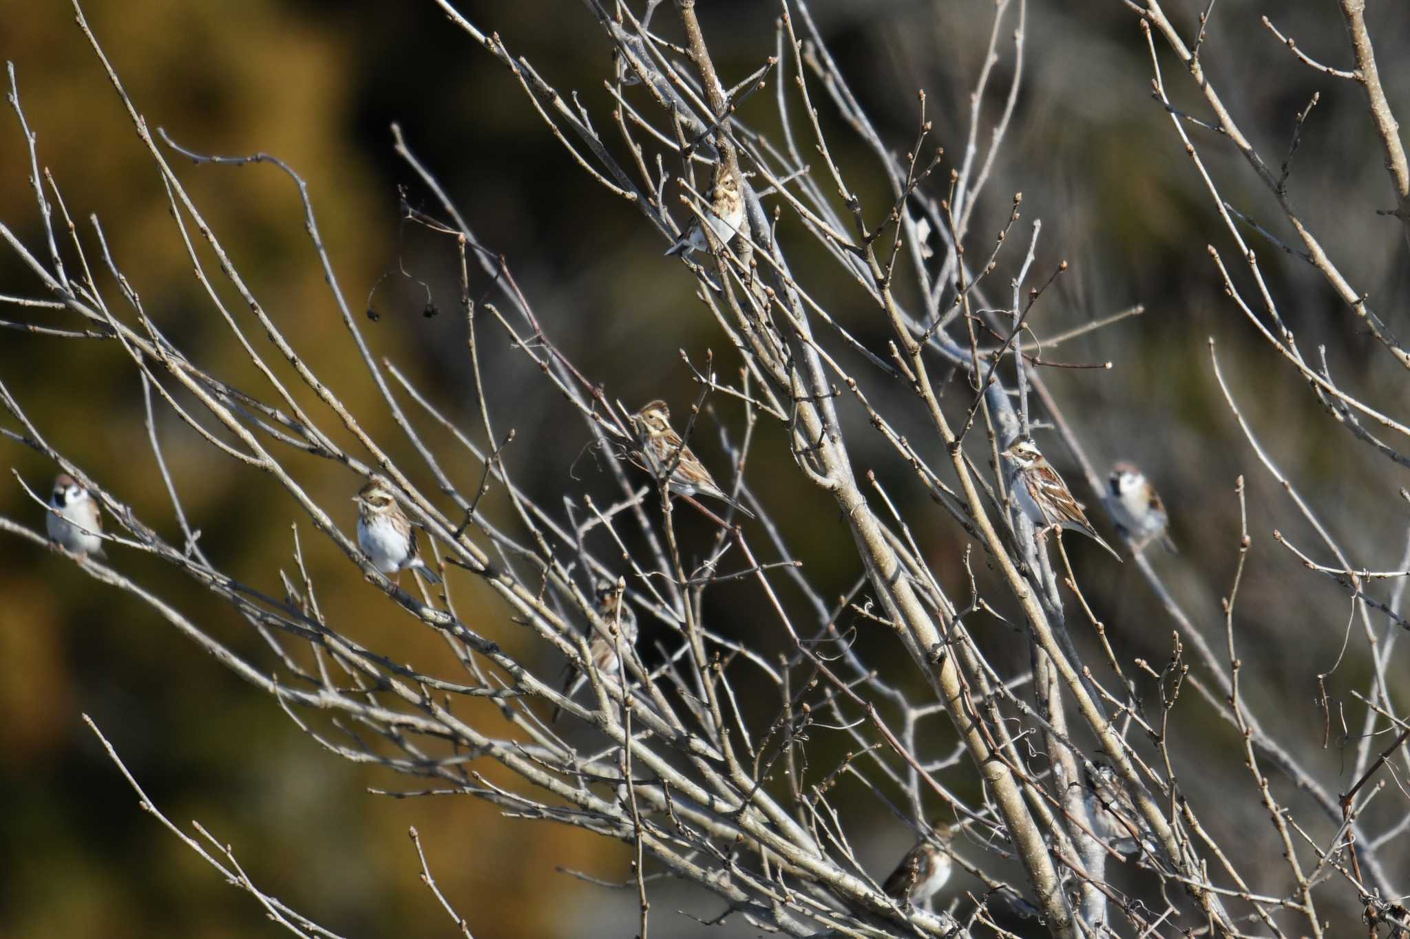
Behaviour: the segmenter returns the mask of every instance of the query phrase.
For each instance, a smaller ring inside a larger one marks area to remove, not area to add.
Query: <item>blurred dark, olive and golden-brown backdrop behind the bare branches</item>
[[[1206,336],[1217,338],[1235,394],[1272,456],[1318,507],[1354,563],[1380,569],[1399,563],[1407,517],[1394,493],[1404,484],[1403,473],[1328,421],[1224,296],[1206,245],[1232,258],[1231,241],[1169,118],[1149,97],[1149,56],[1135,17],[1115,3],[1077,6],[1029,4],[1024,89],[976,215],[973,249],[987,251],[1012,193],[1022,191],[1025,218],[1014,238],[1026,245],[1028,222],[1043,220],[1034,270],[1046,276],[1060,259],[1072,265],[1035,314],[1036,335],[1145,304],[1144,317],[1066,344],[1055,356],[1111,360],[1110,372],[1052,370],[1046,377],[1096,459],[1135,459],[1159,484],[1184,553],[1159,556],[1156,565],[1215,642],[1221,636],[1217,603],[1228,590],[1237,553],[1234,479],[1248,474],[1255,550],[1239,610],[1241,639],[1249,649],[1244,680],[1268,729],[1292,749],[1311,753],[1310,769],[1335,790],[1348,783],[1342,774],[1351,756],[1335,739],[1328,750],[1317,749],[1323,718],[1314,694],[1316,676],[1332,667],[1342,645],[1347,601],[1335,586],[1310,580],[1273,545],[1273,528],[1299,545],[1311,545],[1313,538],[1276,483],[1256,467],[1220,400]],[[1203,6],[1172,3],[1170,13],[1193,32]],[[1204,65],[1273,166],[1286,155],[1294,114],[1313,92],[1321,94],[1303,132],[1292,197],[1352,283],[1371,293],[1392,328],[1410,332],[1403,315],[1406,246],[1397,222],[1375,215],[1376,208],[1392,207],[1393,198],[1363,97],[1352,83],[1299,65],[1258,23],[1265,13],[1273,15],[1308,53],[1349,68],[1335,8],[1299,7],[1221,6],[1204,45]],[[611,51],[584,4],[479,0],[458,8],[481,28],[498,31],[513,53],[529,58],[561,92],[578,89],[606,135],[611,99],[602,79],[611,75]],[[959,159],[969,87],[983,65],[993,4],[830,0],[814,8],[883,138],[897,151],[911,146],[914,93],[924,87],[935,139],[946,146],[948,160]],[[773,53],[777,13],[773,4],[701,4],[726,84]],[[455,310],[454,252],[444,238],[399,224],[398,186],[407,186],[413,206],[429,211],[436,206],[393,155],[392,121],[402,125],[412,149],[446,184],[479,239],[508,258],[556,341],[587,374],[606,380],[612,396],[629,404],[663,396],[684,407],[695,387],[678,360],[681,348],[697,362],[713,348],[725,374],[737,367],[694,300],[694,280],[658,256],[661,237],[630,206],[587,180],[548,135],[517,82],[431,3],[144,0],[93,3],[87,15],[151,127],[165,127],[178,142],[200,152],[269,152],[303,175],[354,314],[361,314],[369,291],[399,263],[430,284],[441,310],[437,318],[422,317],[419,287],[388,277],[372,298],[381,320],[360,322],[374,352],[433,390],[462,427],[475,428],[477,417],[464,321]],[[1410,75],[1394,63],[1404,59],[1410,17],[1396,4],[1376,4],[1369,20],[1382,77],[1392,103],[1404,113]],[[678,35],[670,4],[658,10],[656,27]],[[1001,53],[986,101],[990,117],[981,121],[981,152],[1012,73],[1007,42]],[[90,259],[96,263],[96,242],[86,220],[94,213],[114,260],[168,335],[237,384],[257,387],[251,366],[233,348],[192,276],[161,180],[68,4],[0,0],[0,55],[14,62],[25,114],[38,134],[39,162],[54,172]],[[1179,106],[1204,114],[1173,62],[1166,58],[1163,65]],[[747,101],[744,120],[773,127],[771,97],[770,86],[767,94]],[[822,111],[849,182],[878,214],[888,200],[880,173],[830,107]],[[1225,198],[1287,238],[1268,193],[1232,148],[1213,134],[1196,131],[1194,137]],[[45,256],[34,194],[25,183],[27,159],[13,111],[6,110],[0,115],[0,221]],[[268,166],[231,169],[192,166],[175,155],[168,159],[290,341],[365,415],[378,439],[407,455],[364,369],[351,358],[289,180]],[[935,179],[943,180],[950,165]],[[830,272],[815,272],[809,262],[819,255],[795,222],[790,229],[787,213],[784,220],[780,237],[795,252],[795,270],[825,284],[829,308],[871,348],[884,351],[884,324],[862,291]],[[1352,390],[1387,407],[1403,403],[1403,372],[1356,328],[1321,279],[1301,262],[1266,249],[1266,242],[1253,244],[1304,351],[1325,344],[1332,374]],[[1021,260],[1019,249],[1011,251],[1001,269],[1004,280],[995,283],[1007,283]],[[209,252],[203,253],[209,260]],[[1242,289],[1251,287],[1245,275],[1235,277]],[[472,280],[477,291],[488,286],[479,273]],[[111,279],[104,273],[99,282],[117,310]],[[238,297],[224,283],[217,290],[238,318]],[[10,252],[0,252],[0,293],[42,296],[42,289]],[[47,315],[13,307],[0,313],[0,318],[48,324]],[[243,322],[250,324],[248,317]],[[72,322],[55,318],[55,325]],[[264,342],[258,329],[250,335]],[[587,435],[551,389],[522,367],[522,358],[502,342],[491,355],[486,370],[498,390],[492,407],[501,427],[520,434],[510,460],[517,459],[515,469],[530,491],[548,497],[564,486]],[[116,344],[61,344],[4,331],[0,380],[55,446],[100,474],[168,538],[178,538],[147,448],[140,386]],[[967,391],[957,383],[952,387],[946,400],[962,408]],[[914,403],[895,389],[883,387],[878,394],[890,407],[911,408],[914,414],[901,418],[901,425],[911,439],[928,439]],[[300,400],[310,397],[300,391]],[[737,428],[736,410],[722,403],[719,411]],[[963,534],[914,490],[907,467],[866,435],[863,418],[852,411],[846,417],[856,427],[857,469],[876,469],[905,510],[935,519],[916,536],[942,583],[963,593]],[[231,573],[278,593],[276,569],[290,569],[289,524],[298,521],[330,621],[374,648],[395,649],[399,660],[450,670],[444,643],[385,604],[369,604],[372,587],[337,552],[307,539],[312,528],[278,487],[220,458],[169,411],[158,418],[158,432],[202,545]],[[701,439],[702,452],[718,458],[708,442],[712,429]],[[780,505],[797,556],[823,595],[836,595],[857,574],[850,539],[836,536],[843,529],[819,493],[798,491],[777,428],[763,428],[750,483],[761,498]],[[52,466],[13,442],[0,448],[8,466],[47,491]],[[1072,473],[1066,455],[1052,449],[1053,462]],[[443,452],[457,481],[472,489],[479,467],[448,445]],[[933,443],[928,452],[940,456]],[[601,487],[602,474],[589,462],[582,460],[574,474],[587,479],[584,487]],[[774,465],[783,470],[770,472]],[[350,531],[345,496],[357,480],[313,460],[295,459],[290,466],[324,505],[345,512],[340,521]],[[1080,496],[1094,501],[1091,493]],[[41,511],[18,486],[0,487],[0,514],[42,528]],[[1094,572],[1084,586],[1098,615],[1111,624],[1118,655],[1163,662],[1172,624],[1144,586],[1132,572],[1111,570],[1073,541],[1074,562]],[[281,933],[247,895],[220,883],[138,811],[133,793],[83,728],[79,715],[85,712],[176,824],[199,819],[234,846],[258,884],[334,931],[453,935],[448,918],[417,881],[409,825],[426,836],[433,873],[479,939],[632,929],[630,895],[554,873],[564,866],[622,878],[627,856],[620,846],[561,826],[502,819],[475,800],[368,795],[369,786],[415,786],[327,753],[268,697],[202,655],[149,608],[93,584],[62,557],[10,538],[0,541],[0,556],[6,559],[0,566],[0,663],[7,666],[0,681],[0,804],[7,809],[0,825],[0,933],[202,939]],[[117,556],[127,573],[159,583],[165,597],[223,642],[252,659],[266,657],[245,624],[212,604],[204,591],[133,552]],[[546,669],[556,667],[522,635],[494,625],[503,611],[468,579],[461,581],[470,590],[468,597],[462,594],[467,618],[482,621],[489,635],[503,634],[508,648],[539,655]],[[721,628],[753,635],[749,594],[725,588],[719,595],[712,611]],[[1354,635],[1351,655],[1328,679],[1331,694],[1348,708],[1355,704],[1349,691],[1366,686],[1365,642],[1356,641]],[[783,636],[773,634],[757,642],[767,650],[785,648]],[[884,655],[887,638],[866,642]],[[1014,641],[995,634],[993,642],[1003,649]],[[1021,669],[1025,663],[1026,653],[1015,650],[1010,664]],[[759,714],[767,712],[767,702],[756,705]],[[1193,695],[1177,711],[1177,729],[1206,741],[1203,749],[1180,749],[1179,759],[1187,760],[1184,781],[1211,795],[1220,787],[1242,787],[1246,800],[1211,798],[1204,809],[1245,843],[1266,840],[1273,857],[1272,831],[1231,753],[1235,736],[1211,724],[1210,714]],[[1348,719],[1354,733],[1356,714]],[[1221,760],[1230,766],[1220,766]],[[963,776],[964,769],[957,773]],[[1282,780],[1275,786],[1286,790]],[[1280,795],[1306,812],[1296,793]],[[859,801],[857,812],[883,821],[870,802]],[[1306,812],[1306,818],[1314,831],[1330,831],[1316,814]],[[909,835],[891,821],[878,824],[876,832],[859,843],[862,856],[888,867]],[[1403,852],[1394,863],[1403,874]],[[1269,864],[1263,873],[1269,883],[1262,887],[1276,888],[1277,869]],[[668,884],[661,890],[670,900],[657,908],[670,935],[694,935],[695,926],[668,911],[719,912],[713,900],[677,897]],[[544,902],[547,897],[553,901]],[[1332,909],[1354,916],[1351,907]],[[730,935],[753,935],[743,925],[733,929]]]

